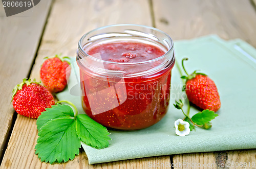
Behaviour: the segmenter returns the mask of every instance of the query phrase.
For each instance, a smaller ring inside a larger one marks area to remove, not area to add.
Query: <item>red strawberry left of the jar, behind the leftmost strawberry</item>
[[[47,58],[42,63],[40,78],[50,92],[62,91],[67,85],[67,78],[70,76],[70,66],[67,61],[63,61],[63,58],[55,55],[55,57]]]

